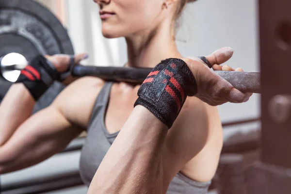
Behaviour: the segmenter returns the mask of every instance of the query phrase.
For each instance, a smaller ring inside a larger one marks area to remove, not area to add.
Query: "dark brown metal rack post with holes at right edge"
[[[247,170],[248,194],[291,194],[291,1],[259,0],[258,5],[261,152]]]

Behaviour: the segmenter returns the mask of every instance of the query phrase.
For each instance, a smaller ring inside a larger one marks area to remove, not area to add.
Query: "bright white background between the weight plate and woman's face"
[[[67,28],[76,53],[87,52],[83,65],[121,65],[123,39],[106,39],[101,33],[99,10],[93,0],[66,0]]]

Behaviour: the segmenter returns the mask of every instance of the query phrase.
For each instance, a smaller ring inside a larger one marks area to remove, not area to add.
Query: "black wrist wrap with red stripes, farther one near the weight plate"
[[[38,100],[55,80],[60,80],[60,73],[44,56],[39,55],[21,70],[16,83],[23,83],[32,97]]]

